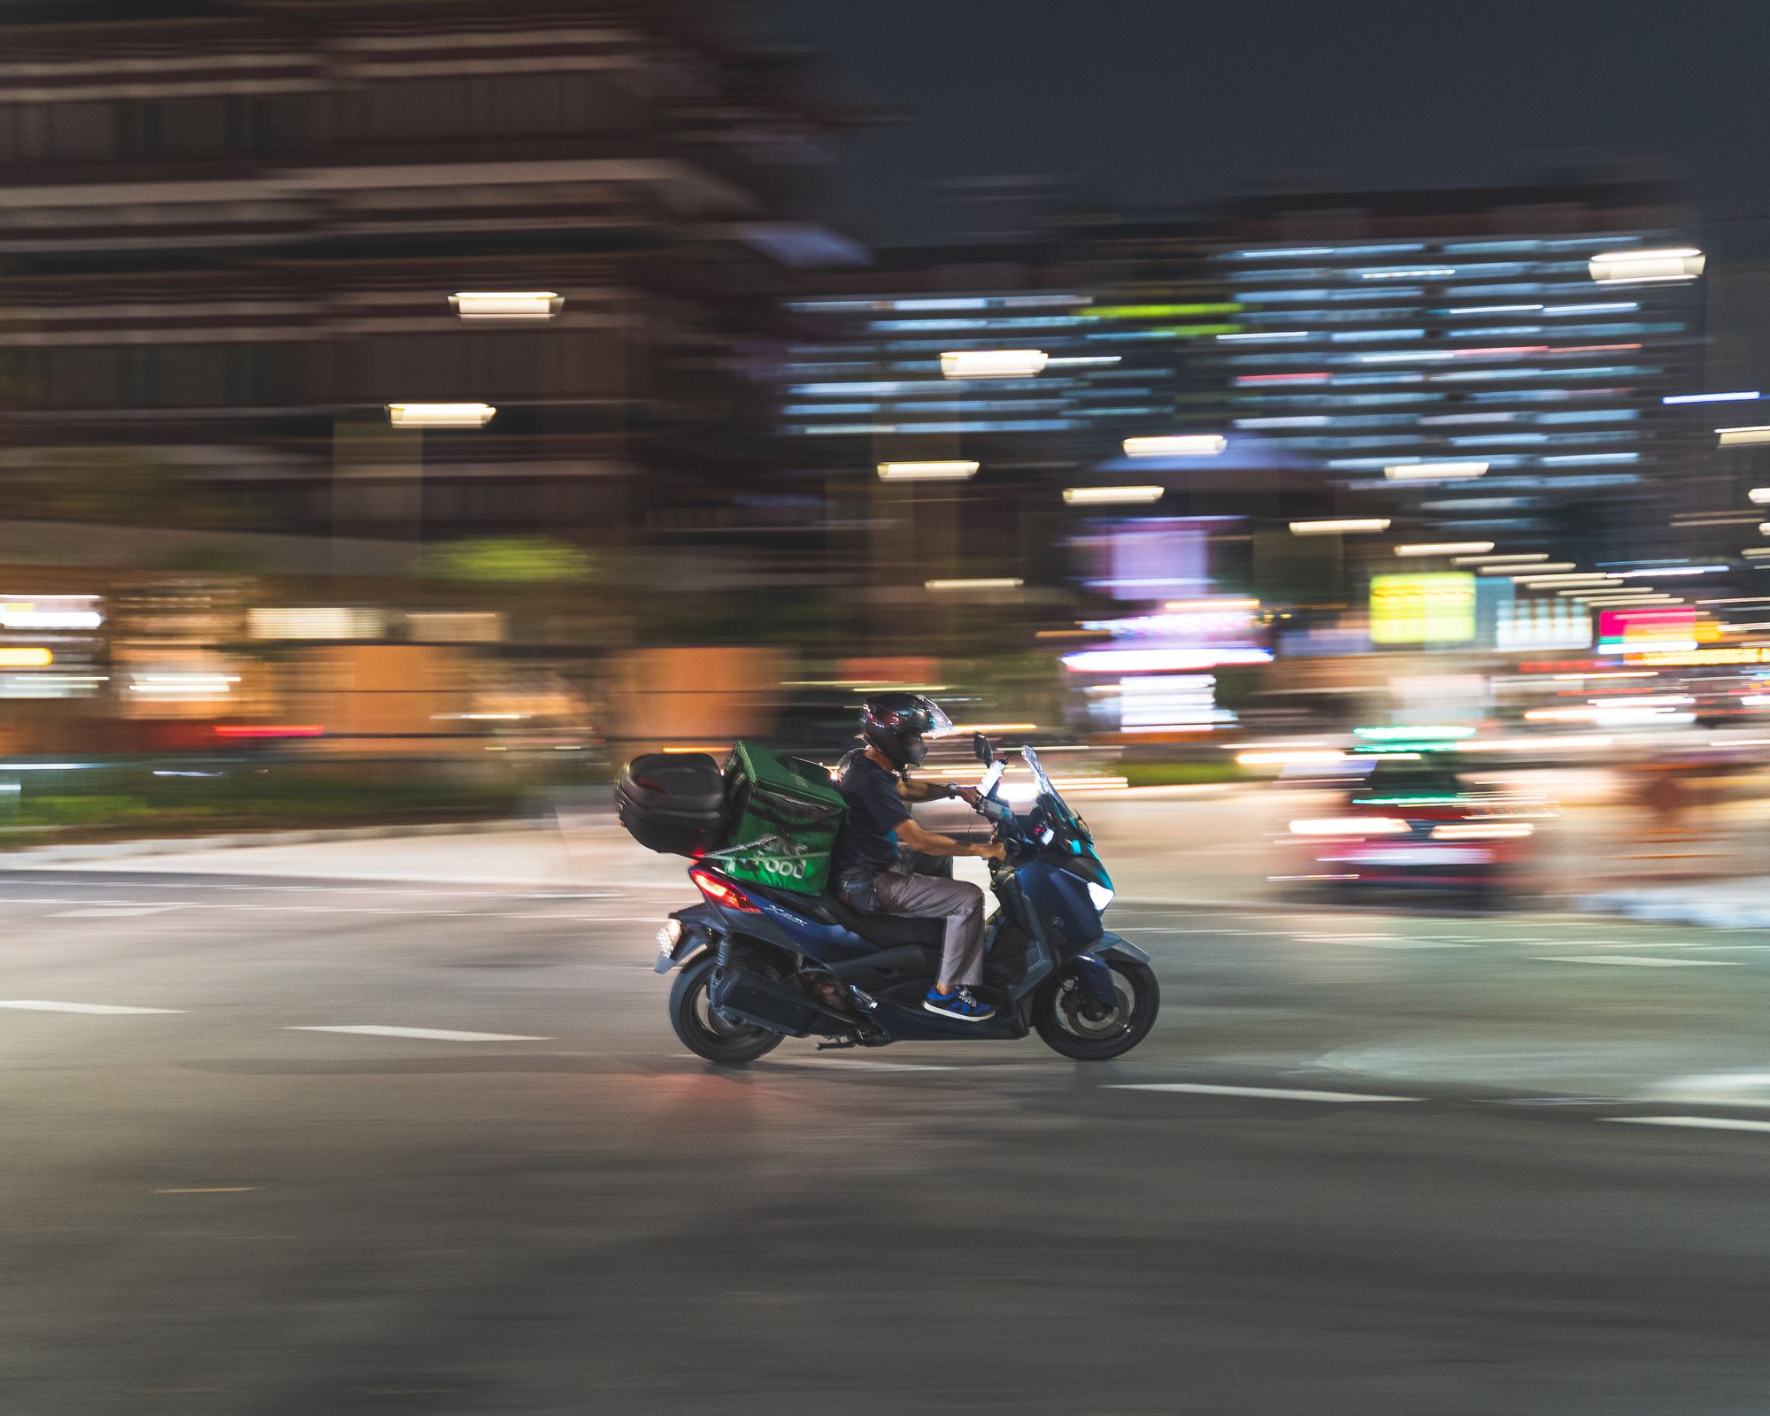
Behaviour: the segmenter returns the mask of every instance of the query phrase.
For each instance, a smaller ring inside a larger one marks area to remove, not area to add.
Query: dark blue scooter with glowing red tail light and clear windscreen
[[[1037,1032],[1055,1051],[1103,1062],[1131,1051],[1156,1023],[1161,991],[1149,954],[1110,933],[1113,889],[1087,823],[1064,802],[1032,747],[1020,758],[1037,786],[1016,814],[1002,800],[1009,758],[979,733],[977,811],[1007,848],[991,862],[997,908],[984,924],[984,982],[995,1016],[929,1012],[943,920],[862,913],[834,894],[805,896],[733,880],[717,853],[689,867],[701,903],[658,931],[658,974],[676,972],[669,1016],[708,1062],[742,1066],[788,1037],[825,1048],[908,1041],[1012,1041]]]

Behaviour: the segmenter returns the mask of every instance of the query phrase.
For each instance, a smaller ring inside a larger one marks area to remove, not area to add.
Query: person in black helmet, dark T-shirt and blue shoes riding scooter
[[[977,805],[974,788],[912,782],[908,770],[927,756],[926,738],[952,731],[938,704],[920,694],[885,694],[860,712],[864,750],[850,754],[837,789],[848,820],[835,837],[832,869],[843,897],[857,910],[945,919],[940,977],[922,1000],[929,1012],[981,1023],[995,1009],[972,997],[984,975],[984,892],[965,880],[904,874],[897,843],[935,857],[972,855],[1002,860],[1000,841],[954,841],[917,825],[906,802],[961,796]]]

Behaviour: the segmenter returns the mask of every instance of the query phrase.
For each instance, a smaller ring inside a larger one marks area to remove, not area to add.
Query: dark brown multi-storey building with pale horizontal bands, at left
[[[42,23],[53,19],[53,23]],[[0,469],[44,519],[612,538],[758,466],[834,119],[692,0],[0,11]],[[464,320],[462,290],[552,319]],[[388,427],[483,402],[485,427]]]

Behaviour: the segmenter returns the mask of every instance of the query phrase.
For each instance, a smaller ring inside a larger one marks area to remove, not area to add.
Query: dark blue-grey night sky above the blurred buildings
[[[752,0],[899,122],[848,138],[823,214],[938,241],[943,184],[1066,175],[1158,214],[1251,191],[1510,184],[1593,165],[1770,214],[1763,0]]]

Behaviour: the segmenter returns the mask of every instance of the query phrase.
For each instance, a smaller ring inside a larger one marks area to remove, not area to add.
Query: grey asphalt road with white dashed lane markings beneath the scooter
[[[1119,1064],[717,1073],[674,899],[0,874],[0,1409],[1770,1402],[1770,935],[1115,906]]]

